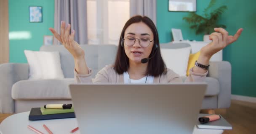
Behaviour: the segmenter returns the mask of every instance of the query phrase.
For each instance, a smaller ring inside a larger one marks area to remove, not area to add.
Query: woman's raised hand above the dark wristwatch
[[[210,59],[213,54],[219,52],[221,49],[224,49],[227,45],[235,42],[240,34],[243,31],[243,28],[237,30],[237,33],[234,36],[230,36],[229,33],[223,28],[214,28],[214,33],[211,33],[209,39],[212,40],[211,43],[204,46],[201,49],[201,54],[203,57]]]

